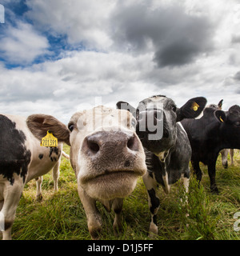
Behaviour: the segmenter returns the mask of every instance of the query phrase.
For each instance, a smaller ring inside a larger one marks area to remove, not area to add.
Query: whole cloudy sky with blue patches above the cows
[[[240,105],[240,0],[0,0],[0,113],[162,94]]]

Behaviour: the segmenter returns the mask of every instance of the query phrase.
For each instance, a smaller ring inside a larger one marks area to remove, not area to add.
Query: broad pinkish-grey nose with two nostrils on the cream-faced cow
[[[121,150],[137,151],[140,143],[137,135],[132,132],[97,132],[86,136],[82,150],[89,155],[114,154]]]

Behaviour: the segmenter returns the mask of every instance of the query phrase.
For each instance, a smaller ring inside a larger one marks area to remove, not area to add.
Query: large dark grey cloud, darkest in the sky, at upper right
[[[115,47],[133,54],[153,50],[159,67],[182,66],[214,49],[214,24],[206,16],[186,14],[182,6],[123,5],[111,22]]]

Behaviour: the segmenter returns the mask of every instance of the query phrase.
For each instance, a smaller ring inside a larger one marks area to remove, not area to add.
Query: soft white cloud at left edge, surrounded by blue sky
[[[14,64],[29,64],[38,56],[50,53],[47,39],[24,22],[18,22],[17,27],[7,26],[0,45],[2,57]]]

